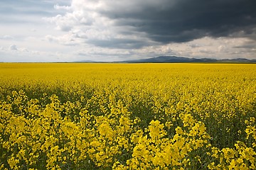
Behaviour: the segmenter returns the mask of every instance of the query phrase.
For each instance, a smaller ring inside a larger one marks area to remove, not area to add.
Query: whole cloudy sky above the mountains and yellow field
[[[1,0],[0,62],[256,59],[255,0]]]

